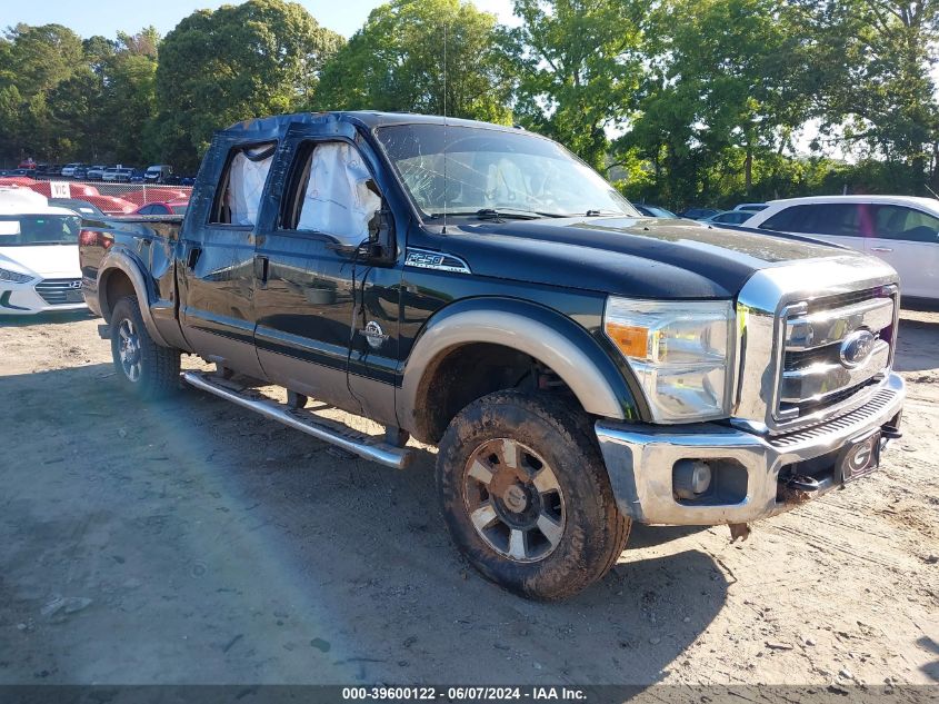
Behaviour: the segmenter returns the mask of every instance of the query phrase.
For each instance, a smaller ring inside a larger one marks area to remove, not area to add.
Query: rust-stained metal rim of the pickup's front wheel
[[[502,557],[539,562],[563,537],[567,513],[558,477],[518,440],[487,440],[470,454],[463,497],[477,535]]]

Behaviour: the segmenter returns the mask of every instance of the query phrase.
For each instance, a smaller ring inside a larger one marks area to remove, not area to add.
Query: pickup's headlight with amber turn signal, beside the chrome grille
[[[729,300],[607,299],[603,329],[629,361],[658,423],[730,415]]]

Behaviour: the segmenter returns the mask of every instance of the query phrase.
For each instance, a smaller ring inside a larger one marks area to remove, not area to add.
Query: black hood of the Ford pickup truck
[[[845,254],[807,238],[631,217],[460,218],[443,242],[479,276],[657,299],[732,298],[759,269]]]

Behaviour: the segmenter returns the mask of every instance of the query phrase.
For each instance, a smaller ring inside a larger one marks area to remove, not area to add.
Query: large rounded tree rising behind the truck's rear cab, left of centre
[[[160,44],[152,157],[194,170],[214,130],[306,105],[341,44],[296,2],[249,0],[193,12]]]

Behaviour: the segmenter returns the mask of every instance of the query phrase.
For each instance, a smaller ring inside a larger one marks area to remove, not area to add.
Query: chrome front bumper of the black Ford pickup
[[[778,495],[780,472],[789,472],[798,463],[811,466],[818,479],[820,487],[812,496],[837,486],[838,450],[897,418],[905,396],[903,379],[890,374],[856,410],[778,436],[710,423],[666,427],[598,420],[596,432],[623,515],[665,525],[749,523],[797,505]],[[886,440],[881,447],[885,445]],[[672,469],[681,459],[708,462],[717,467],[715,476],[725,472],[732,477],[730,488],[696,500],[677,498]]]

